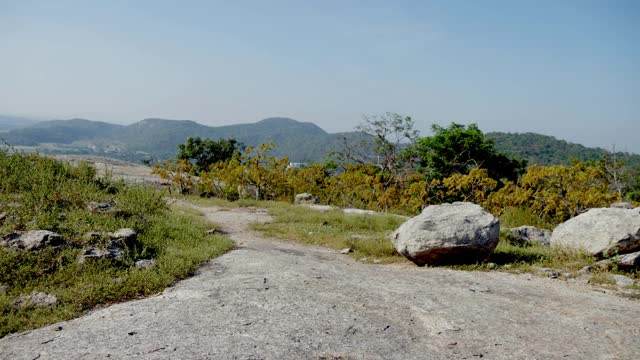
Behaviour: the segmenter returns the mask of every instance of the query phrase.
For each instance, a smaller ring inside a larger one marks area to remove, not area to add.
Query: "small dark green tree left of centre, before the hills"
[[[242,148],[236,139],[200,139],[199,136],[187,138],[185,144],[178,145],[179,160],[191,161],[198,173],[205,171],[211,164],[227,161]]]

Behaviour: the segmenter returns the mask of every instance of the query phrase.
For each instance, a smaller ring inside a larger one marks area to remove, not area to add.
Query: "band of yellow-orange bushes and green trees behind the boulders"
[[[274,145],[266,144],[212,165],[199,179],[194,177],[197,168],[179,160],[158,164],[154,171],[181,193],[228,200],[291,201],[308,192],[329,205],[408,215],[431,204],[470,201],[496,215],[525,208],[549,224],[631,197],[638,188],[607,159],[531,166],[523,174],[525,163],[497,152],[475,125],[435,126],[435,135],[422,139],[415,138],[412,126],[410,118],[397,114],[365,118],[359,129],[370,135],[373,157],[359,152],[359,144],[347,144],[337,153],[338,163],[297,169],[287,166],[287,158],[273,156]]]

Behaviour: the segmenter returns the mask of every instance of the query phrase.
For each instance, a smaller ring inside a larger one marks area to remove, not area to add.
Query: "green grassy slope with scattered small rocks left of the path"
[[[207,235],[211,225],[193,210],[169,208],[160,192],[95,175],[87,164],[74,167],[0,151],[0,234],[50,230],[65,241],[37,251],[0,247],[0,336],[70,319],[99,304],[157,293],[232,247],[223,237]],[[116,211],[89,211],[89,202],[110,203]],[[122,259],[78,262],[90,243],[87,232],[120,228],[139,233]],[[152,268],[133,266],[148,258],[157,260]],[[53,294],[58,302],[16,305],[33,291]]]

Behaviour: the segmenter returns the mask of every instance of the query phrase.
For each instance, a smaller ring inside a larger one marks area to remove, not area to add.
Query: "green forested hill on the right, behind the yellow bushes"
[[[530,165],[566,165],[571,159],[599,160],[604,155],[610,154],[605,149],[589,148],[536,133],[490,132],[485,136],[493,139],[496,150],[510,157],[526,159]],[[638,154],[617,152],[616,157],[629,166],[640,167]]]

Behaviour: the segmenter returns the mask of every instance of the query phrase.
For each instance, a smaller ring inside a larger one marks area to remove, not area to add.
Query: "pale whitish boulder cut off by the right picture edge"
[[[551,245],[599,258],[640,250],[640,209],[591,209],[558,225]]]

